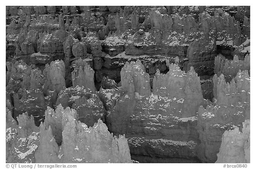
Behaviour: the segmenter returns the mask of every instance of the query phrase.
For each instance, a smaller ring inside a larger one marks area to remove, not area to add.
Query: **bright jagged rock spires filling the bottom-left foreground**
[[[22,114],[18,125],[6,113],[8,163],[131,163],[127,139],[113,136],[99,120],[92,127],[77,121],[76,110],[59,105],[45,111],[45,122],[35,126]]]

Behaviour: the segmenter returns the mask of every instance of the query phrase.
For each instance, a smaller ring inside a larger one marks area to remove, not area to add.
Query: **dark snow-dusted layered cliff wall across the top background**
[[[37,52],[49,55],[52,57],[51,61],[64,59],[64,55],[72,53],[75,43],[77,44],[74,52],[77,56],[85,56],[84,44],[82,47],[80,43],[86,43],[87,53],[94,57],[101,57],[103,49],[110,55],[125,50],[127,54],[133,55],[161,54],[183,58],[187,56],[189,43],[199,39],[200,34],[206,32],[216,36],[217,41],[232,43],[231,45],[238,48],[237,52],[243,51],[242,53],[246,54],[248,47],[241,46],[241,43],[243,39],[250,39],[249,9],[239,8],[242,12],[238,12],[238,8],[235,8],[223,7],[216,10],[214,7],[195,6],[7,7],[7,43],[15,46],[16,56],[28,62],[31,54]],[[101,12],[102,15],[94,16],[91,10]],[[237,14],[233,17],[234,11],[237,11]],[[13,15],[15,20],[11,18]],[[242,26],[240,23],[243,23]],[[92,38],[90,34],[95,36]],[[68,45],[66,42],[70,36],[75,43]],[[104,41],[104,45],[100,40]],[[211,58],[209,55],[206,57]],[[204,59],[207,66],[201,67],[201,71],[207,71],[209,60]],[[192,65],[188,65],[187,71],[190,66]],[[200,73],[196,66],[195,70]]]

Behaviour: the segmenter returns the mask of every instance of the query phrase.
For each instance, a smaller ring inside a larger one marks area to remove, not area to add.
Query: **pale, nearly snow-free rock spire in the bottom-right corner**
[[[250,163],[250,120],[243,122],[242,132],[236,127],[222,135],[216,163]]]

